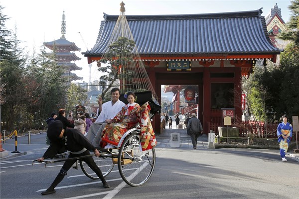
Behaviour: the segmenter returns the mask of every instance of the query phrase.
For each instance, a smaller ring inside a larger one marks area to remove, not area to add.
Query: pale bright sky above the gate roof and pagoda
[[[289,21],[291,0],[123,0],[126,15],[199,14],[257,10],[263,7],[266,16],[275,3],[282,10],[285,22]],[[28,55],[39,52],[43,42],[61,37],[62,14],[65,11],[68,41],[75,42],[81,51],[75,52],[81,61],[76,65],[81,71],[72,71],[83,80],[93,82],[101,76],[96,63],[88,67],[87,58],[81,54],[91,49],[99,33],[103,13],[119,15],[121,0],[0,0],[2,14],[9,18],[7,29],[15,31]],[[80,34],[80,33],[81,34]]]

